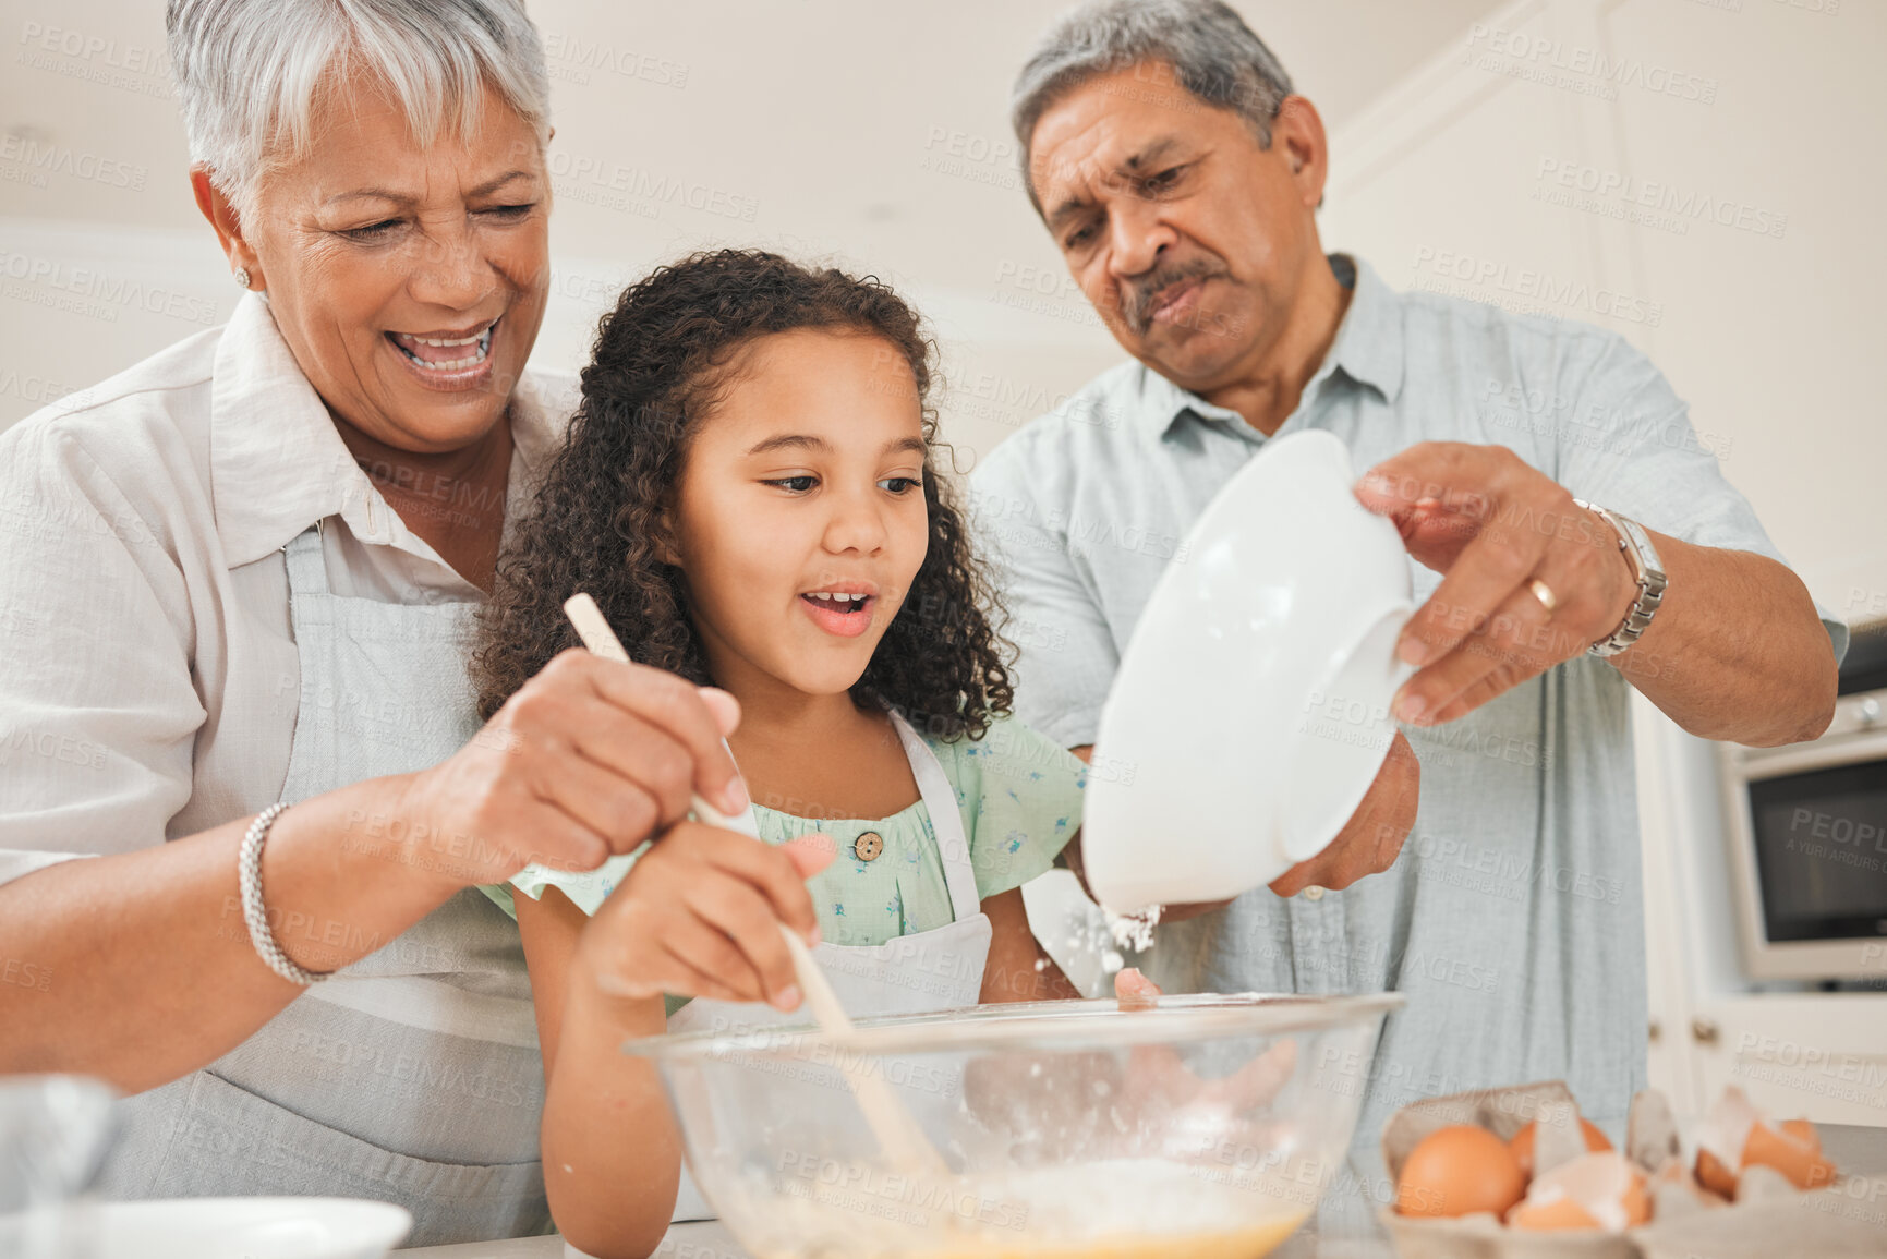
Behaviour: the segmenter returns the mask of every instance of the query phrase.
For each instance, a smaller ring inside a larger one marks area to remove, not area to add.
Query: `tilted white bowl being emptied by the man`
[[[1266,442],[1161,574],[1100,713],[1081,823],[1104,906],[1223,900],[1315,857],[1394,736],[1413,610],[1344,444]]]

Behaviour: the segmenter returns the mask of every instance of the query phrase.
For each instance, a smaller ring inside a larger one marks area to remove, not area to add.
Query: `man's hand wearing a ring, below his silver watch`
[[[1638,583],[1602,517],[1504,445],[1423,442],[1372,468],[1357,500],[1444,574],[1396,653],[1421,668],[1396,717],[1438,725],[1585,653]]]

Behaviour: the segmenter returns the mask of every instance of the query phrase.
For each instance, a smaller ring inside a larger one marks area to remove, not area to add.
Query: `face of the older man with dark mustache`
[[[1315,111],[1251,125],[1177,87],[1162,62],[1096,76],[1036,123],[1028,177],[1070,274],[1115,340],[1210,393],[1259,368],[1321,257]]]

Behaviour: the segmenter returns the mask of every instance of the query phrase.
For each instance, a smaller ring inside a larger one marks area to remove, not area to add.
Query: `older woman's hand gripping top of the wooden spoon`
[[[355,821],[460,887],[532,863],[594,870],[681,821],[694,791],[747,808],[723,744],[738,721],[725,691],[564,651],[451,759],[409,776],[387,817]]]

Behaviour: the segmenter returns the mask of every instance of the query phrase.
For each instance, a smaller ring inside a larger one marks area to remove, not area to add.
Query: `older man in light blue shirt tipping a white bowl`
[[[1647,1023],[1627,687],[1700,736],[1810,738],[1845,629],[1817,623],[1621,338],[1398,294],[1323,253],[1323,123],[1227,6],[1072,13],[1013,123],[1030,200],[1134,359],[974,476],[1011,610],[1053,629],[1025,636],[1025,717],[1093,744],[1170,540],[1283,432],[1334,432],[1372,468],[1357,495],[1400,527],[1423,600],[1398,647],[1421,666],[1396,697],[1413,838],[1393,755],[1315,866],[1162,927],[1149,972],[1406,993],[1355,1066],[1359,1140],[1419,1095],[1555,1076],[1617,1131]]]

